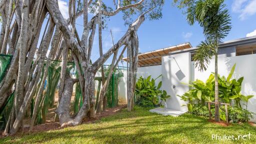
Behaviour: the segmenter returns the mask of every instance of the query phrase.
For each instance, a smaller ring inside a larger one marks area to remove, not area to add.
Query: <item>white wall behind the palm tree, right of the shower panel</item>
[[[230,72],[231,67],[236,63],[234,74],[232,78],[238,79],[243,76],[241,93],[244,95],[254,95],[248,101],[248,110],[256,112],[256,54],[232,56],[232,57],[220,57],[218,58],[218,74],[220,76],[224,75],[227,77]],[[199,71],[194,67],[193,62],[191,62],[191,75],[193,78],[191,80],[200,79],[205,81],[211,72],[214,72],[214,59],[211,59],[210,64],[206,71]],[[253,118],[256,122],[256,115]]]

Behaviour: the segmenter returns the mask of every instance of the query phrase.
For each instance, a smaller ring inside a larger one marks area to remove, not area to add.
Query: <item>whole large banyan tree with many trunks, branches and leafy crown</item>
[[[22,129],[29,110],[32,130],[38,109],[43,107],[47,94],[52,95],[51,89],[56,83],[59,84],[55,120],[61,126],[77,125],[86,116],[94,117],[105,107],[111,73],[125,51],[128,57],[127,109],[132,109],[138,61],[137,30],[145,19],[161,17],[164,0],[67,0],[66,19],[59,10],[58,1],[0,0],[0,109],[7,111],[3,134]],[[103,53],[104,21],[117,13],[123,15],[127,30]],[[82,31],[75,27],[79,16],[83,18]],[[95,38],[99,41],[97,46],[93,45]],[[91,60],[93,48],[99,49],[99,57],[94,61]],[[109,72],[104,75],[103,64],[110,57]],[[70,76],[70,69],[74,67],[75,77]],[[98,70],[101,70],[102,86],[96,100],[94,79]],[[74,85],[79,86],[81,104],[71,115],[69,107]],[[49,90],[45,90],[45,86],[50,87]],[[52,104],[52,100],[48,104]]]

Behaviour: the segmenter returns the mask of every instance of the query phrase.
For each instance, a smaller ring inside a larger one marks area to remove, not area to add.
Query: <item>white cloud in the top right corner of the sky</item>
[[[244,20],[256,13],[256,0],[234,0],[232,11],[239,13],[239,19]]]

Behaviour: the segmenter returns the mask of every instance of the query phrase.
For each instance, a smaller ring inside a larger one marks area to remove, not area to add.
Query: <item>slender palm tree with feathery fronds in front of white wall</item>
[[[231,29],[230,15],[224,0],[197,0],[188,6],[186,19],[190,25],[197,21],[203,27],[205,40],[201,41],[193,57],[200,71],[206,70],[211,57],[215,56],[215,116],[219,121],[218,101],[218,44]]]

